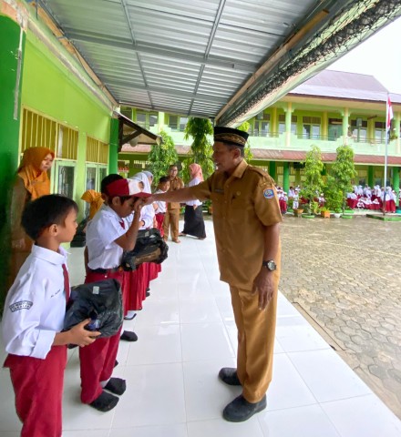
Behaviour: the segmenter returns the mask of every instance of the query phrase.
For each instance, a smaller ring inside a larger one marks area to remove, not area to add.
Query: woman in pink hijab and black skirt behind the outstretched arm
[[[189,187],[198,185],[203,180],[202,168],[199,164],[190,164]],[[205,222],[203,221],[202,203],[197,200],[189,200],[185,204],[184,230],[181,237],[191,235],[197,239],[206,239]]]

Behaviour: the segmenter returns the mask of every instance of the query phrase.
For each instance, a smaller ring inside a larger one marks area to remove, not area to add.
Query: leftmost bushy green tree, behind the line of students
[[[162,143],[158,146],[153,144],[150,148],[149,171],[153,173],[153,184],[159,183],[159,178],[169,174],[169,166],[178,162],[179,157],[174,146],[174,141],[164,130],[159,132]]]

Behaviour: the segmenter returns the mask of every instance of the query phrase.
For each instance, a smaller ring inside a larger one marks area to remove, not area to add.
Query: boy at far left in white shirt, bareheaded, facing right
[[[22,226],[35,245],[5,300],[4,366],[10,369],[16,413],[23,422],[21,436],[60,437],[66,345],[83,347],[100,335],[85,330],[90,319],[61,332],[69,282],[60,244],[74,238],[77,204],[58,195],[37,198],[27,204]]]

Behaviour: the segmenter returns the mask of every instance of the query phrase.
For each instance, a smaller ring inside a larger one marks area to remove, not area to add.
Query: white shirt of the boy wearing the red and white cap
[[[125,228],[121,226],[124,222]],[[87,252],[89,269],[115,269],[121,264],[122,248],[114,241],[128,230],[127,220],[108,207],[102,207],[87,223]]]

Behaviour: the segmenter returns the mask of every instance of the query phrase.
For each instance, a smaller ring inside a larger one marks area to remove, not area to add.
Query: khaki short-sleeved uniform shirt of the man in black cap
[[[264,229],[282,221],[274,181],[242,160],[231,177],[215,172],[191,193],[200,200],[211,198],[221,280],[252,289],[262,267]],[[280,248],[277,263],[279,258]]]

